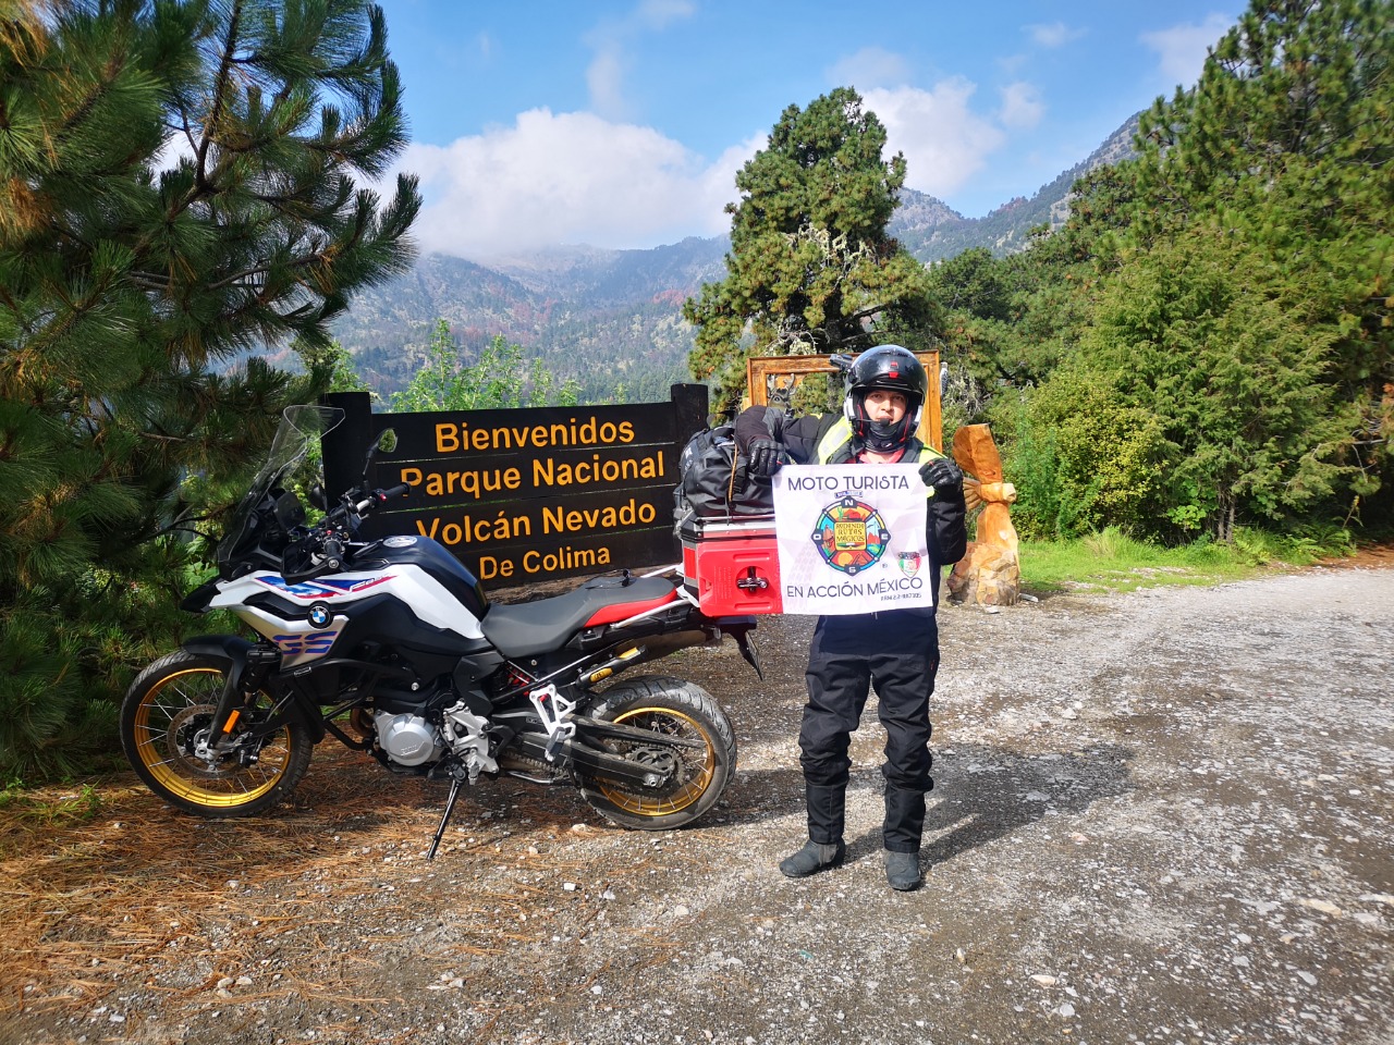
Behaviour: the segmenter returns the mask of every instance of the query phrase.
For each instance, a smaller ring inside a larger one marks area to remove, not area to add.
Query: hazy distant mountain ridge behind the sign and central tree
[[[1073,183],[1133,153],[1139,114],[1086,159],[1032,196],[1016,196],[983,217],[963,217],[944,201],[901,191],[887,231],[919,261],[952,258],[973,247],[1001,256],[1025,249],[1039,226],[1059,227]],[[728,237],[687,237],[647,249],[555,247],[492,259],[445,254],[365,291],[330,326],[368,385],[382,396],[406,386],[445,319],[468,362],[495,336],[544,359],[559,380],[581,385],[584,401],[654,401],[689,380],[693,329],[682,304],[726,274]]]

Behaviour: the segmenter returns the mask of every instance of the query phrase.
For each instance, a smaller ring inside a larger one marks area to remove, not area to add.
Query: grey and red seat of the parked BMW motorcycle
[[[648,609],[677,602],[664,577],[598,577],[566,595],[520,603],[489,603],[480,627],[503,656],[551,653],[584,627],[613,624]]]

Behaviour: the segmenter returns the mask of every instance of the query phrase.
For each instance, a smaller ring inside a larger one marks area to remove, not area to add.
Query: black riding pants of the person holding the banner
[[[848,745],[875,686],[888,789],[930,790],[930,694],[940,666],[933,609],[820,617],[809,649],[799,748],[804,780],[846,786]]]

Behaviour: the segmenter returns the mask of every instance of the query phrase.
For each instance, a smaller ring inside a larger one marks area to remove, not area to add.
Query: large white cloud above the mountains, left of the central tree
[[[718,235],[754,139],[714,163],[648,127],[533,109],[512,127],[447,146],[411,145],[399,170],[421,177],[413,227],[425,254],[488,259],[559,242],[633,248]]]

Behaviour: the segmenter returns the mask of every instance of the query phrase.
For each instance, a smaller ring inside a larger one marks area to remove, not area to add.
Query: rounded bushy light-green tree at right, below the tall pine
[[[1344,447],[1359,410],[1326,379],[1335,334],[1274,297],[1266,268],[1250,245],[1189,234],[1119,272],[1085,336],[1083,364],[1160,428],[1171,529],[1154,534],[1230,541],[1238,522],[1291,522],[1356,472]]]

